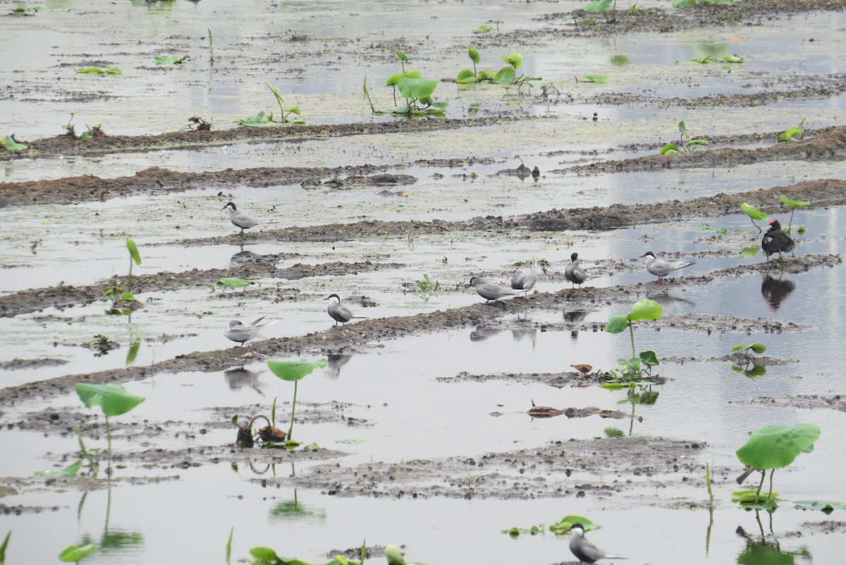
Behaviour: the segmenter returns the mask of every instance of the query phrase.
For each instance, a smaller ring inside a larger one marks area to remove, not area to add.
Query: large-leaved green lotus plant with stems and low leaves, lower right
[[[804,422],[766,425],[753,431],[744,446],[735,452],[740,463],[746,465],[746,470],[737,481],[742,484],[751,473],[761,471],[761,483],[754,491],[754,496],[750,496],[750,492],[753,491],[738,491],[733,493],[734,499],[739,499],[741,502],[774,502],[772,474],[776,469],[792,464],[800,453],[812,452],[814,443],[820,435],[818,426]],[[766,496],[761,496],[761,487],[764,485],[767,469],[770,471],[770,491]]]

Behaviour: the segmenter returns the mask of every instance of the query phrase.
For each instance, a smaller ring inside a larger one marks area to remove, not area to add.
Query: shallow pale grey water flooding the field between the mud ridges
[[[272,109],[275,101],[265,82],[277,85],[286,103],[299,105],[309,123],[367,121],[373,118],[360,100],[361,79],[367,74],[378,106],[390,106],[390,91],[378,85],[388,74],[398,72],[393,49],[407,49],[414,58],[413,66],[423,69],[427,76],[453,76],[469,66],[465,48],[474,40],[471,30],[477,25],[502,20],[503,31],[539,30],[547,23],[533,17],[583,7],[581,3],[552,6],[377,0],[354,7],[336,2],[220,0],[123,4],[51,0],[41,5],[77,9],[3,19],[7,42],[27,46],[17,57],[0,61],[0,78],[14,91],[14,96],[0,99],[0,134],[14,131],[19,139],[62,133],[59,124],[68,122],[70,112],[75,113],[78,131],[85,123],[101,122],[107,133],[155,134],[179,129],[197,113],[211,117],[215,127],[222,129],[259,109]],[[664,7],[664,3],[639,5]],[[338,17],[339,13],[343,17]],[[240,25],[220,25],[233,18],[238,18]],[[562,20],[554,25],[572,24]],[[83,27],[95,31],[82,33]],[[773,80],[783,76],[810,80],[813,75],[837,73],[846,40],[836,30],[842,27],[843,14],[825,13],[695,34],[636,34],[560,43],[548,36],[531,45],[486,48],[482,66],[498,68],[501,52],[519,49],[526,56],[525,72],[556,80],[576,99],[587,99],[597,92],[629,92],[651,98],[743,94],[770,88]],[[214,32],[213,66],[207,51],[208,29]],[[311,40],[288,41],[284,31],[288,29],[307,33]],[[826,41],[808,41],[810,37],[824,37]],[[359,38],[360,44],[374,46],[362,57],[362,51],[355,47]],[[725,73],[722,65],[686,62],[692,56],[723,50],[744,55],[746,63]],[[153,63],[157,54],[186,52],[194,55],[196,62],[183,68],[165,69]],[[610,58],[615,54],[626,54],[630,64],[614,67]],[[124,74],[74,74],[73,69],[83,64],[113,64],[124,69]],[[589,72],[607,73],[612,81],[589,85],[574,80],[574,76]],[[804,83],[800,80],[799,84]],[[805,117],[807,128],[837,125],[842,120],[843,96],[761,107],[680,108],[652,103],[624,107],[548,103],[536,96],[505,94],[498,87],[468,89],[448,83],[442,83],[437,92],[451,102],[449,115],[453,117],[506,112],[549,119],[464,129],[460,134],[431,132],[423,138],[416,134],[361,135],[297,144],[239,144],[203,151],[22,159],[3,164],[3,180],[81,174],[124,176],[152,166],[216,171],[226,167],[310,167],[316,163],[326,167],[376,163],[391,173],[418,178],[416,184],[398,188],[407,196],[383,195],[382,189],[373,188],[305,190],[299,185],[228,189],[231,198],[256,217],[277,217],[282,226],[314,226],[361,219],[466,220],[553,207],[688,200],[718,192],[789,187],[804,179],[843,178],[846,172],[839,160],[591,176],[550,173],[577,163],[642,156],[643,151],[634,151],[629,144],[657,145],[674,140],[681,119],[695,135],[780,131]],[[593,112],[597,112],[596,122],[591,120]],[[515,154],[530,166],[541,167],[544,176],[539,184],[497,174],[519,164]],[[493,163],[449,168],[421,162],[470,156],[491,157]],[[434,178],[435,173],[444,176]],[[471,173],[476,174],[475,179]],[[142,265],[135,267],[136,274],[226,268],[233,255],[242,250],[238,244],[183,244],[186,239],[237,231],[220,210],[230,197],[217,197],[218,190],[0,210],[4,275],[0,292],[46,288],[60,282],[102,284],[105,289],[108,277],[126,271],[127,235],[139,244],[144,258]],[[789,189],[785,192],[791,195]],[[777,214],[785,225],[787,216]],[[799,211],[794,228],[802,225],[807,232],[795,235],[799,239],[797,253],[843,254],[842,216],[841,207]],[[722,236],[702,231],[703,223],[727,228],[728,233]],[[250,547],[272,546],[286,556],[322,562],[331,557],[324,554],[332,548],[347,549],[367,540],[370,545],[404,544],[409,561],[453,563],[493,558],[497,562],[552,563],[572,561],[568,538],[556,538],[547,531],[545,535],[512,540],[502,530],[548,525],[569,513],[602,524],[602,529],[591,532],[591,539],[629,557],[631,562],[739,562],[746,542],[737,528],[759,537],[760,532],[754,513],[729,502],[736,488],[733,477],[741,469],[734,451],[750,431],[762,425],[797,421],[820,425],[822,436],[813,453],[803,454],[776,475],[776,490],[782,493],[784,502],[772,517],[761,516],[761,524],[768,539],[777,539],[782,551],[806,550],[816,562],[837,562],[842,553],[842,529],[821,535],[810,530],[806,522],[835,522],[842,518],[843,511],[826,517],[794,510],[792,502],[846,501],[846,487],[832,480],[841,474],[839,438],[846,432],[846,416],[830,409],[775,408],[749,402],[759,397],[840,394],[838,368],[846,359],[839,336],[846,328],[839,304],[843,304],[846,267],[782,275],[774,263],[765,294],[761,288],[765,279],[760,275],[684,288],[668,284],[667,292],[662,293],[664,289],[640,266],[639,257],[646,250],[696,258],[696,265],[682,274],[763,261],[760,255],[750,259],[739,255],[744,247],[760,245],[761,236],[753,229],[746,217],[734,214],[607,233],[468,233],[462,238],[451,235],[335,244],[249,244],[244,250],[255,254],[297,254],[294,259],[280,261],[277,266],[281,267],[295,262],[366,260],[396,261],[404,267],[345,277],[262,281],[262,288],[278,286],[290,297],[277,303],[254,299],[251,289],[211,292],[214,281],[209,281],[208,287],[145,293],[140,298],[152,301],[131,321],[104,315],[106,304],[0,318],[3,360],[47,357],[67,362],[34,370],[0,371],[3,387],[10,387],[122,368],[129,343],[138,338],[141,345],[135,365],[230,347],[232,343],[222,331],[233,318],[281,318],[266,329],[266,337],[323,331],[332,321],[321,299],[331,292],[341,293],[344,299],[366,295],[375,300],[377,305],[367,309],[353,304],[356,314],[370,317],[414,315],[475,304],[479,297],[465,286],[470,276],[484,274],[504,280],[513,271],[514,262],[535,256],[551,261],[550,268],[560,280],[569,254],[577,250],[585,266],[602,272],[603,276],[592,280],[591,285],[642,282],[634,288],[633,301],[657,299],[667,315],[734,315],[806,327],[781,334],[751,335],[708,335],[705,331],[672,328],[655,332],[649,326],[638,329],[635,337],[639,348],[653,348],[662,359],[702,360],[662,363],[660,372],[668,381],[653,387],[659,392],[656,403],[634,406],[635,420],[596,416],[532,420],[526,414],[533,402],[559,409],[596,406],[626,413],[632,409],[625,392],[599,387],[558,389],[531,381],[528,375],[533,372],[560,372],[573,363],[590,363],[607,370],[617,359],[630,354],[625,335],[541,327],[562,322],[565,310],[535,311],[529,318],[506,318],[490,326],[387,341],[361,353],[330,357],[327,370],[316,371],[300,383],[298,414],[305,416],[305,421],[298,422],[295,434],[299,440],[345,453],[338,463],[350,467],[371,461],[501,453],[569,438],[604,436],[607,428],[637,436],[704,441],[708,446],[698,462],[721,469],[715,476],[717,509],[710,542],[706,507],[692,508],[689,504],[691,499],[706,501],[704,488],[691,495],[689,490],[655,484],[610,497],[589,491],[584,497],[549,500],[341,498],[320,491],[294,491],[284,480],[278,487],[273,481],[263,486],[262,479],[302,474],[309,464],[298,464],[296,469],[290,465],[255,468],[244,457],[242,463],[233,466],[203,464],[187,469],[129,464],[126,469],[117,469],[118,476],[149,477],[158,482],[115,486],[111,492],[91,491],[84,501],[80,492],[58,489],[5,495],[3,505],[7,507],[47,508],[19,516],[0,515],[0,536],[8,530],[13,532],[9,562],[52,562],[63,547],[88,540],[103,546],[86,559],[91,563],[162,563],[172,562],[173,556],[191,562],[216,562],[222,560],[229,529],[234,526],[235,559],[246,557]],[[714,251],[725,253],[709,253]],[[601,264],[609,259],[627,261],[632,270],[608,276]],[[413,284],[424,275],[439,282],[437,292],[404,292],[404,283]],[[569,286],[551,279],[541,277],[536,288],[555,292]],[[566,312],[572,314],[576,308],[589,308],[583,319],[588,325],[601,325],[621,310],[608,304],[588,307],[573,301]],[[348,329],[354,329],[354,325]],[[97,334],[107,335],[120,348],[96,357],[91,349],[81,347]],[[728,362],[714,360],[728,354],[733,345],[753,342],[765,343],[767,354],[773,357],[794,362],[769,366],[766,376],[753,380],[734,372]],[[456,380],[464,371],[492,377],[522,373],[525,377]],[[272,376],[263,363],[245,365],[243,370],[233,366],[228,371],[159,374],[127,383],[126,387],[147,400],[119,417],[128,427],[118,431],[114,445],[117,453],[146,444],[168,449],[229,445],[234,439],[234,428],[226,421],[229,415],[269,413],[277,398],[278,419],[283,421],[292,393],[291,385]],[[366,425],[347,425],[332,402],[343,403],[344,417],[366,420]],[[3,406],[0,423],[22,420],[45,409],[88,412],[69,392],[49,401]],[[310,421],[311,409],[334,410],[336,418]],[[135,429],[132,425],[146,422],[166,422],[166,431],[160,436],[127,440],[126,434]],[[197,433],[194,422],[206,426],[206,433]],[[342,443],[344,440],[363,443]],[[91,439],[91,444],[101,447],[105,441],[102,437]],[[63,467],[68,463],[64,458],[76,457],[74,437],[61,436],[59,431],[45,435],[10,430],[5,425],[0,431],[0,449],[4,453],[4,475],[13,479],[28,477],[39,469]],[[188,454],[186,459],[190,459]],[[574,474],[574,485],[579,479],[578,473]],[[645,484],[650,480],[643,476],[636,479]],[[609,476],[607,480],[617,479]],[[298,512],[291,512],[293,501]],[[674,507],[676,502],[678,507]],[[799,531],[803,535],[797,535]]]

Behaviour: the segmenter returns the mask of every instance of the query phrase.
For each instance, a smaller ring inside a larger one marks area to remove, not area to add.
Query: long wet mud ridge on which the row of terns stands
[[[779,261],[778,268],[785,272],[805,272],[817,268],[831,268],[842,264],[840,255],[802,255]],[[741,274],[768,272],[776,268],[776,262],[734,266],[692,277],[675,277],[665,282],[665,288],[684,288],[695,285],[709,285],[723,277],[737,277]],[[349,326],[334,326],[327,332],[316,332],[299,337],[273,337],[247,345],[245,348],[228,348],[216,351],[195,352],[179,355],[146,367],[129,367],[118,370],[104,370],[85,375],[69,375],[47,381],[38,381],[6,387],[0,390],[0,402],[19,403],[28,398],[44,398],[68,392],[74,383],[126,382],[145,379],[160,373],[180,371],[219,371],[245,363],[255,363],[274,356],[301,356],[305,354],[344,354],[363,351],[367,348],[379,348],[388,339],[409,337],[421,332],[437,332],[457,327],[484,326],[503,315],[514,315],[532,310],[558,310],[565,306],[569,310],[591,309],[595,304],[615,304],[630,302],[635,297],[648,296],[649,293],[662,292],[652,289],[653,283],[613,288],[583,288],[578,291],[563,289],[557,293],[534,293],[525,298],[515,298],[493,302],[492,304],[473,304],[464,308],[437,312],[374,318],[357,321]],[[662,289],[663,290],[663,289]],[[684,321],[684,323],[682,323]],[[800,329],[799,326],[778,321],[749,321],[732,316],[692,316],[685,318],[669,317],[666,320],[649,322],[649,326],[677,327],[683,330],[700,332],[753,332],[766,328],[767,332],[783,332]],[[580,322],[562,325],[560,329],[601,331]]]

